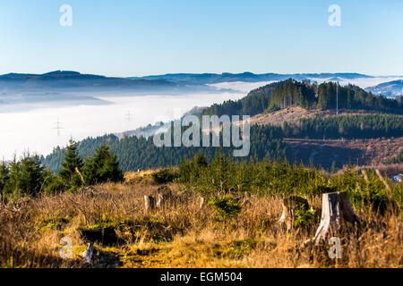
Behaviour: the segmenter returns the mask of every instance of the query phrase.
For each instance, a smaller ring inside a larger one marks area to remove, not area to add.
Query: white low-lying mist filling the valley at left
[[[14,154],[21,156],[26,151],[47,155],[57,145],[64,147],[71,138],[81,140],[135,130],[149,123],[180,118],[194,106],[244,96],[242,92],[133,97],[81,94],[81,101],[0,103],[0,160],[11,160]]]

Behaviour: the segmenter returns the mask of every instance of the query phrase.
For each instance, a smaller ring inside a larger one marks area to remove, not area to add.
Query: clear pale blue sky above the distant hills
[[[403,75],[403,1],[1,0],[0,74],[55,70]]]

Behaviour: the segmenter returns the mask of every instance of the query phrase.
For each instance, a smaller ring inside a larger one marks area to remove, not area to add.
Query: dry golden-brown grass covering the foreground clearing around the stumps
[[[175,192],[177,185],[171,185]],[[280,197],[252,196],[228,223],[212,220],[210,206],[199,209],[200,198],[174,201],[152,214],[144,211],[143,196],[158,186],[105,184],[98,194],[59,194],[31,199],[20,212],[0,213],[2,267],[81,267],[86,242],[80,228],[114,226],[119,243],[95,245],[96,259],[115,257],[119,267],[402,267],[402,221],[397,214],[379,216],[356,210],[365,223],[359,235],[342,240],[342,258],[328,257],[330,246],[301,248],[318,226],[321,198],[309,198],[317,209],[312,227],[280,231]],[[73,241],[73,258],[59,257],[60,240]],[[103,265],[106,266],[106,265]]]

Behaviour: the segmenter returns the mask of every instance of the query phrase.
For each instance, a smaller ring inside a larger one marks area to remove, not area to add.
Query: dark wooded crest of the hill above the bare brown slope
[[[338,96],[337,96],[338,95]],[[390,99],[374,96],[364,89],[326,82],[320,85],[310,81],[285,80],[252,90],[247,97],[212,105],[202,114],[255,115],[282,108],[301,106],[305,109],[367,110],[372,112],[403,114],[402,97]]]

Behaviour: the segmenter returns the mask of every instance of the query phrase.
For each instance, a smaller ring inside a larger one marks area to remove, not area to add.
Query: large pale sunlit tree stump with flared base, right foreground
[[[313,242],[319,244],[328,235],[347,231],[356,224],[359,225],[359,219],[350,204],[347,191],[323,194],[321,224]]]

